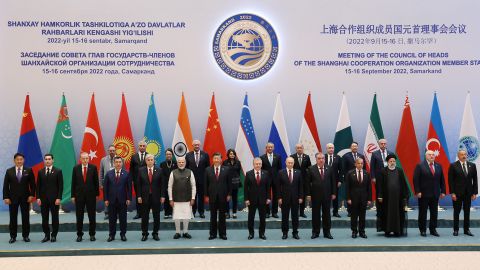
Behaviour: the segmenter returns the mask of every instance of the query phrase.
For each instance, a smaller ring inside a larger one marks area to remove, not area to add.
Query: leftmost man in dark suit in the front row
[[[10,244],[17,240],[18,207],[22,212],[22,237],[30,242],[30,203],[35,196],[35,176],[31,168],[24,167],[25,157],[21,153],[13,156],[15,166],[7,169],[3,181],[3,202],[10,213]]]

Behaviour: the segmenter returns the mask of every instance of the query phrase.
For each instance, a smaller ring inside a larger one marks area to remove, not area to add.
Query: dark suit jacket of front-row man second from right
[[[442,166],[436,162],[433,164],[435,174],[432,175],[430,166],[427,161],[417,164],[413,173],[413,186],[415,194],[421,192],[422,198],[439,198],[440,193],[446,194],[445,176],[443,175]]]

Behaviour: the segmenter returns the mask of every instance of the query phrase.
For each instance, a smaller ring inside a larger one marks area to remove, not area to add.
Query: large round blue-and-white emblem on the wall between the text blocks
[[[277,60],[277,35],[263,18],[238,14],[225,20],[215,32],[213,56],[228,75],[240,80],[256,79]]]

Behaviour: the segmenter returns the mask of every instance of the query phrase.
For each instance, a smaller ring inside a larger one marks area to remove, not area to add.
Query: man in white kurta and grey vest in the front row
[[[197,193],[195,186],[195,176],[190,169],[185,168],[184,157],[177,159],[178,169],[170,173],[168,180],[168,196],[170,205],[173,208],[173,220],[175,222],[175,235],[173,239],[190,239],[192,236],[188,233],[188,222],[193,217],[192,205],[195,203]],[[183,231],[181,230],[183,223]]]

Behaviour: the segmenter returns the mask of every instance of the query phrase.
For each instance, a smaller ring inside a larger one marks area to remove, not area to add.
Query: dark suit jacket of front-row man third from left
[[[83,181],[83,165],[78,164],[73,167],[72,171],[72,198],[93,198],[99,196],[98,188],[98,170],[93,164],[87,167],[87,182]]]

